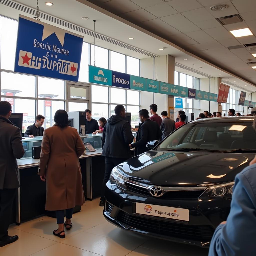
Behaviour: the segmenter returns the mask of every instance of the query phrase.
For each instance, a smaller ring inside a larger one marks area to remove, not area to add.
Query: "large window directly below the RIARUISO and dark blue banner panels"
[[[115,107],[118,104],[124,105],[126,112],[132,113],[131,125],[135,128],[135,125],[139,124],[140,92],[92,85],[92,117],[94,119],[99,120],[101,117],[108,119],[115,114]]]

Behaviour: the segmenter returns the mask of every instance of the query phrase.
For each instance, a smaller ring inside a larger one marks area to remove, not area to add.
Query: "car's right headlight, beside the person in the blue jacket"
[[[235,182],[219,184],[215,186],[208,187],[205,192],[200,196],[200,198],[209,198],[209,197],[225,197],[232,198],[233,188]]]

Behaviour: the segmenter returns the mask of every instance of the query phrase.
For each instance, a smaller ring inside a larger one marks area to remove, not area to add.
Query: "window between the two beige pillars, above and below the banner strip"
[[[194,84],[193,84],[193,80],[194,80]],[[174,81],[175,81],[175,85],[200,90],[199,78],[194,77],[193,79],[192,76],[175,71]],[[180,98],[180,97],[175,97],[175,99],[177,98]],[[189,99],[189,98],[181,98],[181,99],[183,99],[183,111],[185,111],[185,113],[195,113],[195,117],[199,116],[200,100]]]

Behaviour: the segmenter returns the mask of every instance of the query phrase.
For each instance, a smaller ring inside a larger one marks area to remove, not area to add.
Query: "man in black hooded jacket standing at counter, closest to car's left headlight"
[[[106,168],[102,183],[100,206],[104,206],[105,187],[112,169],[131,158],[129,143],[133,142],[134,137],[129,122],[125,121],[124,106],[117,105],[115,114],[105,124],[101,138],[102,156],[105,156]]]

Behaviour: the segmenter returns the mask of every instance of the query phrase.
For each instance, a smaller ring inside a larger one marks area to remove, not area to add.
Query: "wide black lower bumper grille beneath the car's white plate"
[[[209,242],[214,234],[214,229],[209,225],[189,226],[176,224],[168,221],[132,216],[123,211],[119,212],[117,220],[135,229],[185,240]]]

